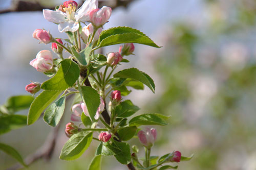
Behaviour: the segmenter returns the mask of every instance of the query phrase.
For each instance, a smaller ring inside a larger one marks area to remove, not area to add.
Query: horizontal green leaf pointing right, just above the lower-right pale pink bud
[[[141,125],[167,125],[167,123],[158,115],[154,113],[149,113],[149,114],[142,114],[139,116],[136,116],[132,118],[129,122],[129,125],[136,125],[136,126],[141,126]]]

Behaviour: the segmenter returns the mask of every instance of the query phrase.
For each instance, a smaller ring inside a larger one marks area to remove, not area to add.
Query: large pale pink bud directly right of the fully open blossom
[[[111,8],[103,6],[101,9],[95,9],[90,12],[90,21],[96,28],[103,26],[111,16]]]

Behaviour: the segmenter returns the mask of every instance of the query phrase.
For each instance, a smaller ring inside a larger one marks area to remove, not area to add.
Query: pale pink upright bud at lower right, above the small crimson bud
[[[146,147],[151,148],[155,143],[157,137],[157,131],[154,128],[146,128],[145,131],[141,130],[138,132],[140,142]]]

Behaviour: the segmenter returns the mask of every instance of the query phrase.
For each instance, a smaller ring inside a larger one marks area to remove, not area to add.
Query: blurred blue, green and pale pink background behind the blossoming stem
[[[0,2],[0,10],[12,4],[9,0]],[[55,6],[64,1],[36,2]],[[135,56],[126,58],[131,62],[119,66],[137,67],[155,81],[155,94],[146,87],[125,96],[141,108],[136,114],[172,116],[168,126],[154,127],[158,137],[152,155],[176,150],[184,156],[194,153],[193,159],[179,163],[179,169],[256,169],[255,14],[254,0],[137,0],[127,8],[113,10],[104,29],[132,27],[162,46],[135,44]],[[38,51],[50,50],[50,44],[38,44],[32,38],[33,31],[42,28],[54,37],[66,38],[42,12],[0,14],[0,104],[11,95],[28,94],[25,86],[30,80],[48,79],[29,65]],[[118,47],[105,48],[104,53],[118,51]],[[64,130],[70,114],[67,108],[50,162],[38,160],[28,169],[87,169],[97,142],[75,161],[58,158],[68,140]],[[26,157],[44,143],[51,129],[39,119],[29,127],[1,135],[0,142]],[[132,144],[139,146],[142,157],[138,139],[132,139]],[[0,169],[15,163],[0,152]],[[114,157],[104,157],[102,169],[127,167]]]

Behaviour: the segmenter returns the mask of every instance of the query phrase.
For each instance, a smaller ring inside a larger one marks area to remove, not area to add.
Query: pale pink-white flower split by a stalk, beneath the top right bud
[[[99,35],[102,32],[102,28],[99,28],[93,37],[93,43],[99,39]],[[88,37],[93,34],[93,25],[90,23],[88,26],[82,28],[81,37],[84,42],[87,43]]]

